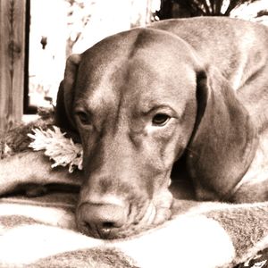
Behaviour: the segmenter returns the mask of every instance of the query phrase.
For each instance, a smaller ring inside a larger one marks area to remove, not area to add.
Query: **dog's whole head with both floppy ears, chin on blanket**
[[[77,222],[95,237],[169,219],[181,155],[197,197],[221,199],[254,154],[254,130],[228,81],[161,30],[133,29],[71,55],[56,110],[60,126],[80,135]]]

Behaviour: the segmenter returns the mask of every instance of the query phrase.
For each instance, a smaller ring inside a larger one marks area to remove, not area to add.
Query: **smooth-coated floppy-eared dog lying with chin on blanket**
[[[267,200],[267,47],[263,25],[200,17],[130,29],[71,55],[55,118],[83,147],[82,175],[68,175],[82,176],[80,231],[130,236],[170,219],[174,198]],[[35,154],[15,159],[23,180],[64,180]],[[13,174],[3,164],[1,179]]]

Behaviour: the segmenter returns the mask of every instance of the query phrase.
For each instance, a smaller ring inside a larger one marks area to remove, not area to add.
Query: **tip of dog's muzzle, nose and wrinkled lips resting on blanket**
[[[81,203],[77,208],[78,228],[97,239],[121,239],[138,234],[171,217],[172,195],[156,199],[145,198],[130,204],[121,199],[113,204]]]

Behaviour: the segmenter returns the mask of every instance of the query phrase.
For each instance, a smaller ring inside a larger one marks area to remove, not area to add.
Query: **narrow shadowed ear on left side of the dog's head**
[[[80,65],[81,55],[72,54],[66,62],[64,79],[60,84],[55,107],[56,124],[65,130],[76,130],[72,117],[72,103],[77,71]]]

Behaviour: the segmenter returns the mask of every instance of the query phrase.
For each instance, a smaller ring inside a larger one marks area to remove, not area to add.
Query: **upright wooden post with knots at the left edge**
[[[23,113],[26,0],[0,0],[0,130]]]

